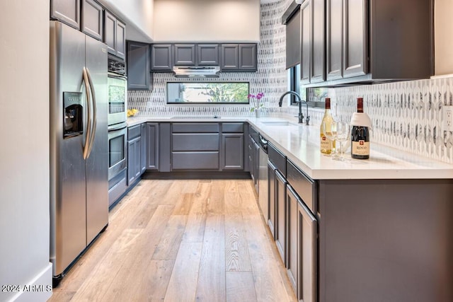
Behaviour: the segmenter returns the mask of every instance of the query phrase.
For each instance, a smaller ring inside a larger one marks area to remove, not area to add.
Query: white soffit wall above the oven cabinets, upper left
[[[125,21],[127,40],[152,41],[154,0],[99,0],[99,2]]]

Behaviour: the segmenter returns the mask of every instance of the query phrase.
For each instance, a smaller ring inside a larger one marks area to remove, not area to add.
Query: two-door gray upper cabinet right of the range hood
[[[222,44],[222,71],[256,71],[256,44]]]

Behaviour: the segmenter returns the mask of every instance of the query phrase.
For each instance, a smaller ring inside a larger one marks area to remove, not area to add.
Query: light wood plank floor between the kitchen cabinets
[[[296,301],[251,180],[142,180],[50,301]]]

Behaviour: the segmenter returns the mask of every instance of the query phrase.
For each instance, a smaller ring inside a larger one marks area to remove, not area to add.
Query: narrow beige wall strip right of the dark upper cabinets
[[[435,0],[435,74],[453,74],[453,1]]]

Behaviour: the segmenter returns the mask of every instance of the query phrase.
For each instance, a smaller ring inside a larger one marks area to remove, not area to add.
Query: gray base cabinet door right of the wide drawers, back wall
[[[222,170],[243,170],[243,133],[222,134]]]

